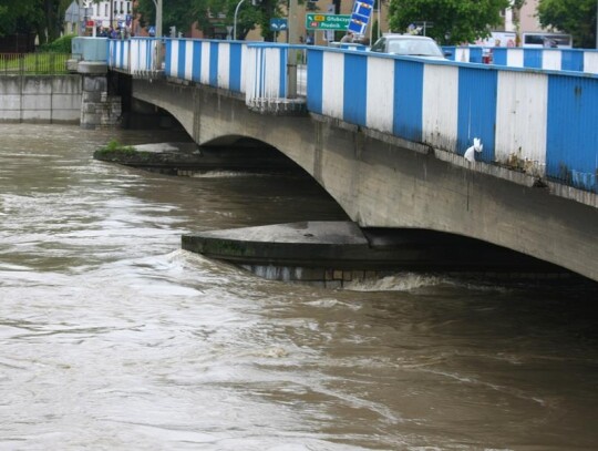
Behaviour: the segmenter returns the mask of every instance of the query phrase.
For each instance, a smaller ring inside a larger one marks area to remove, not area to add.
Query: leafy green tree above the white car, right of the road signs
[[[503,24],[501,11],[508,6],[509,0],[392,0],[389,22],[394,32],[405,32],[414,22],[433,22],[426,35],[437,42],[473,42]]]

